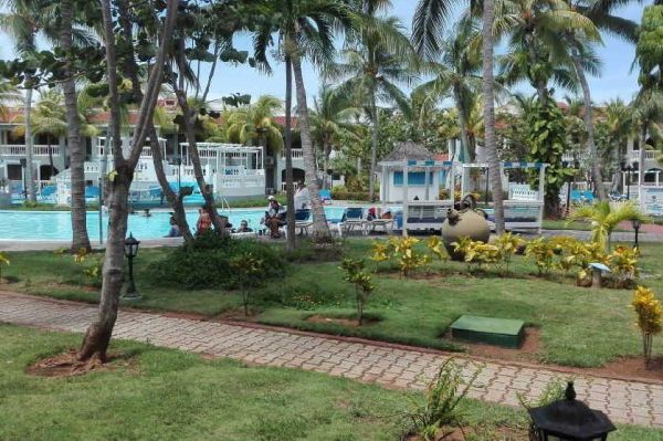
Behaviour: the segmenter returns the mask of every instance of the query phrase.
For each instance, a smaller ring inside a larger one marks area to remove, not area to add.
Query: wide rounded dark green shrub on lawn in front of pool
[[[274,246],[249,239],[231,239],[203,234],[190,246],[172,250],[147,269],[152,283],[189,290],[232,288],[238,280],[230,266],[232,258],[251,253],[262,260],[264,271],[251,277],[249,284],[259,286],[280,275],[286,267],[285,259]]]

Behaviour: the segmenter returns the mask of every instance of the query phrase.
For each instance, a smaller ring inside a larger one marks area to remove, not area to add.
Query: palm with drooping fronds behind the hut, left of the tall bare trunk
[[[470,141],[469,118],[472,111],[473,97],[480,92],[481,56],[473,43],[480,39],[478,27],[472,19],[461,20],[454,30],[441,42],[442,57],[439,62],[431,61],[424,65],[434,78],[418,86],[413,94],[434,105],[451,97],[457,109],[459,136],[461,147],[474,160],[474,146]],[[417,48],[423,51],[423,48]]]

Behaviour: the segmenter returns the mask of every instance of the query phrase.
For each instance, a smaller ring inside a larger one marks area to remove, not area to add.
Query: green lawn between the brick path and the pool
[[[346,243],[348,255],[366,256],[370,242]],[[641,266],[643,283],[663,295],[663,248],[644,244]],[[219,290],[188,291],[155,286],[147,274],[148,262],[169,250],[141,250],[137,260],[137,285],[144,298],[131,305],[141,308],[193,312],[214,316],[239,309],[236,293]],[[10,253],[6,274],[18,277],[9,287],[32,294],[96,302],[95,290],[82,290],[80,269],[71,256],[52,253]],[[372,263],[369,262],[372,266]],[[572,279],[555,274],[549,280],[535,277],[535,266],[517,256],[514,276],[503,279],[487,273],[471,276],[459,263],[436,263],[431,277],[401,279],[382,265],[373,277],[377,288],[367,313],[378,321],[360,328],[329,322],[311,322],[313,315],[350,317],[354,291],[343,281],[338,262],[292,264],[280,280],[255,290],[256,319],[337,335],[461,350],[443,337],[462,314],[519,318],[540,329],[539,361],[592,367],[619,356],[636,356],[640,334],[633,311],[628,307],[632,293],[625,290],[576,287]],[[441,273],[443,271],[443,273]],[[663,338],[654,340],[654,353],[663,353]]]

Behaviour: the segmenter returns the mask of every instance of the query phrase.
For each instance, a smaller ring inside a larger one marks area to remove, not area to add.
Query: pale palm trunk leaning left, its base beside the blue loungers
[[[311,212],[313,213],[313,240],[326,242],[332,240],[332,232],[325,217],[325,207],[318,196],[317,174],[313,143],[311,141],[311,126],[308,123],[308,107],[306,104],[306,90],[304,88],[304,76],[302,75],[302,62],[293,57],[293,72],[295,74],[295,90],[297,93],[297,109],[299,113],[299,133],[302,135],[302,153],[304,154],[304,171],[308,182],[311,196]]]

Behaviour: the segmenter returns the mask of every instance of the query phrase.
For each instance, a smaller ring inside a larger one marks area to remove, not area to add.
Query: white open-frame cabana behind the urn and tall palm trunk
[[[487,164],[463,164],[461,179],[461,195],[469,192],[467,183],[470,170],[481,168],[487,170]],[[535,229],[540,233],[544,219],[544,197],[545,178],[547,164],[544,162],[511,162],[499,164],[502,181],[506,181],[505,190],[508,191],[508,199],[504,201],[504,221],[507,230],[529,230]],[[508,169],[536,169],[539,172],[538,189],[533,190],[528,183],[512,183],[505,177],[505,170]],[[487,176],[486,176],[487,179]],[[487,210],[491,227],[494,227],[494,216],[492,210]]]

